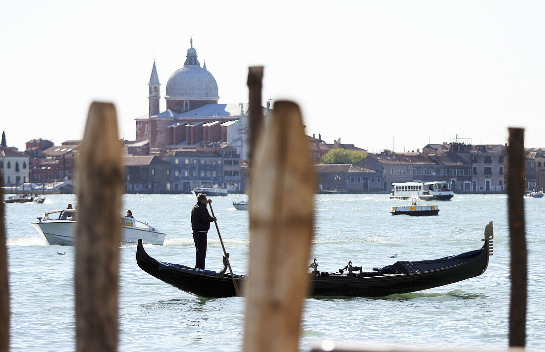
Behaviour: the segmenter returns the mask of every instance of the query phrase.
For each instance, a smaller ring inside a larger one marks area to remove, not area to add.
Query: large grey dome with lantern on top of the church
[[[168,78],[167,100],[218,100],[217,83],[206,68],[197,60],[197,51],[191,46],[187,50],[184,67]]]

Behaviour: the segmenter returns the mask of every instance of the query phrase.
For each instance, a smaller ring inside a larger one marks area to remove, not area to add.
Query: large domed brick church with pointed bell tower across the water
[[[149,144],[149,153],[161,155],[173,150],[201,149],[228,144],[247,160],[248,104],[218,104],[214,76],[187,50],[182,68],[166,84],[166,111],[159,110],[161,84],[153,63],[149,86],[148,114],[136,118],[136,143]],[[268,110],[264,109],[265,116]]]

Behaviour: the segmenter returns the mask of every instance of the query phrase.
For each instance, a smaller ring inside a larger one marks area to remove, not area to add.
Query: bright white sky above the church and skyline
[[[538,1],[10,1],[0,13],[0,129],[9,146],[82,138],[90,102],[116,105],[119,136],[161,96],[190,38],[220,104],[299,104],[307,135],[370,151],[429,142],[545,147],[545,3]],[[161,99],[161,111],[165,109]]]

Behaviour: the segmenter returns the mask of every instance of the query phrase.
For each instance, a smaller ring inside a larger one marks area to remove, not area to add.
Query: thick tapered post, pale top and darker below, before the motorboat
[[[76,162],[76,351],[117,351],[123,168],[113,104],[89,107]]]

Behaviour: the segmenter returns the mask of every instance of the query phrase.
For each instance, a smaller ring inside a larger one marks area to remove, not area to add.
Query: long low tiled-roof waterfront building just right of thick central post
[[[373,193],[383,190],[383,174],[352,164],[317,164],[318,191],[320,193]]]

